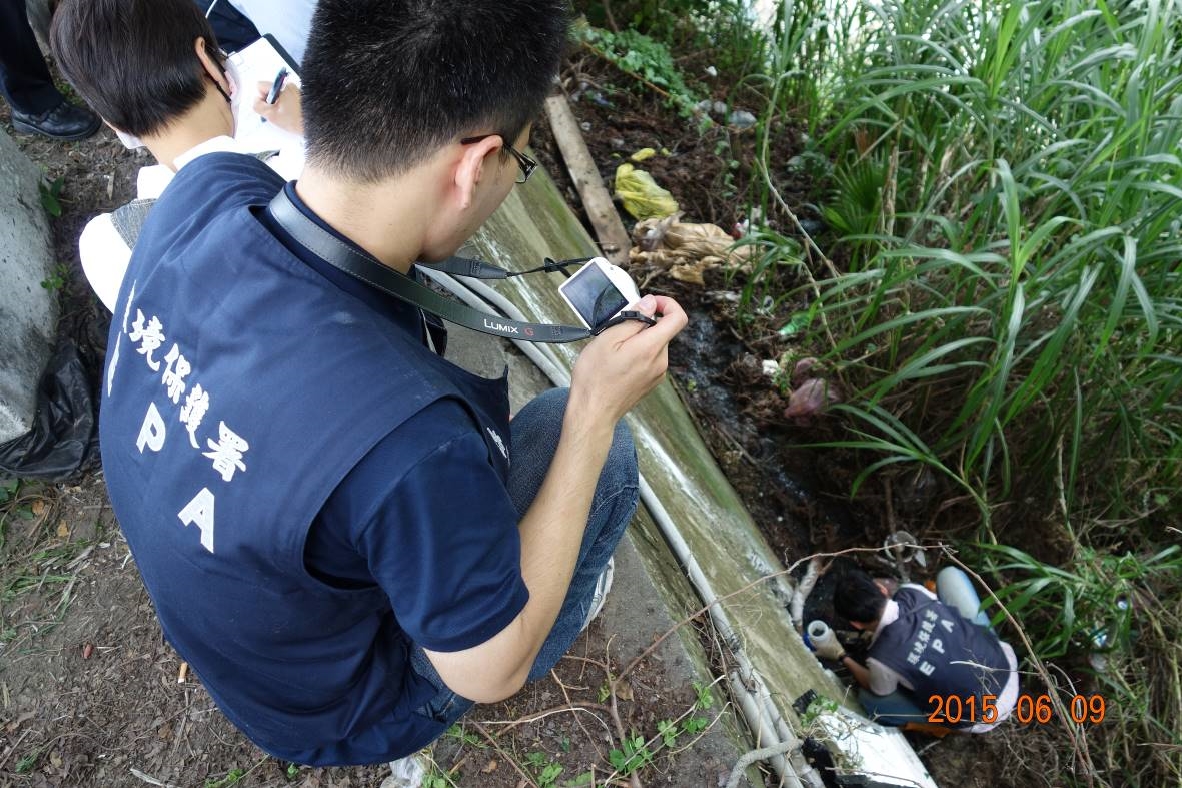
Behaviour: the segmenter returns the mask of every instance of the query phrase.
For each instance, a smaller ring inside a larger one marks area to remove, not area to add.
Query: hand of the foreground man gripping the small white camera
[[[583,349],[571,372],[569,418],[603,419],[615,426],[664,379],[669,343],[689,318],[677,301],[664,295],[645,295],[631,308],[662,317],[655,326],[639,320],[612,326]]]

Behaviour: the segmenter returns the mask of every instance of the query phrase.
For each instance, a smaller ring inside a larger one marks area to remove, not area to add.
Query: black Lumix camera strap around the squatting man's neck
[[[522,339],[525,341],[540,343],[569,343],[596,336],[602,331],[618,325],[624,320],[641,320],[648,325],[656,324],[654,318],[641,312],[621,312],[615,318],[603,324],[595,331],[582,326],[565,326],[551,323],[527,323],[524,320],[511,320],[488,312],[473,310],[466,304],[453,301],[440,295],[435,291],[420,285],[411,278],[384,266],[365,252],[343,243],[332,233],[327,232],[314,221],[304,215],[297,208],[287,190],[284,189],[274,196],[267,206],[271,216],[282,227],[300,246],[320,258],[333,268],[342,271],[355,279],[358,279],[371,287],[392,295],[397,299],[417,306],[418,308],[439,315],[444,320],[495,337],[508,339]],[[567,261],[571,262],[571,261]],[[472,260],[468,258],[449,258],[439,263],[415,263],[440,271],[447,274],[472,276],[475,279],[505,279],[514,275],[498,266]],[[557,271],[563,263],[547,261],[541,268],[534,271]],[[530,273],[530,272],[520,272]]]

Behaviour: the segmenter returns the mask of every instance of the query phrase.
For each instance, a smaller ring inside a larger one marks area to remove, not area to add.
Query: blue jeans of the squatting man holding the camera
[[[566,389],[551,389],[538,395],[509,422],[512,451],[509,454],[508,493],[519,515],[524,515],[541,488],[561,434],[566,412]],[[632,520],[639,500],[639,471],[632,432],[621,422],[616,425],[608,462],[599,474],[591,513],[583,532],[574,577],[566,590],[566,598],[554,626],[541,644],[541,650],[530,669],[530,680],[537,680],[558,664],[583,630],[595,595],[599,573],[616,552],[624,529]],[[473,706],[444,684],[427,655],[418,646],[411,649],[410,664],[416,673],[429,680],[440,692],[418,714],[450,725]]]

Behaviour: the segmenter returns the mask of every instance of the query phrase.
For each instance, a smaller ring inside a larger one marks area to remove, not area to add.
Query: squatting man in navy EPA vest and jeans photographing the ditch
[[[400,274],[453,254],[532,169],[567,25],[565,0],[320,0],[299,181],[200,156],[139,235],[103,380],[112,506],[164,634],[278,757],[400,758],[545,675],[636,507],[619,419],[676,302],[642,299],[656,325],[591,340],[511,425],[504,378],[267,207],[285,191]]]

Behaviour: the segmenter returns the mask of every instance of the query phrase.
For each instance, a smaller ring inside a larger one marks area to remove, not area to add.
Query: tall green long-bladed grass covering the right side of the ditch
[[[1141,712],[1100,734],[1112,762],[1176,783],[1182,701],[1158,676],[1178,676],[1182,637],[1182,6],[844,8],[781,4],[753,78],[764,171],[777,118],[830,162],[827,256],[755,239],[811,263],[781,297],[807,302],[794,336],[844,392],[825,445],[863,460],[855,493],[917,464],[944,476],[1037,652],[1109,657],[1095,680]]]

